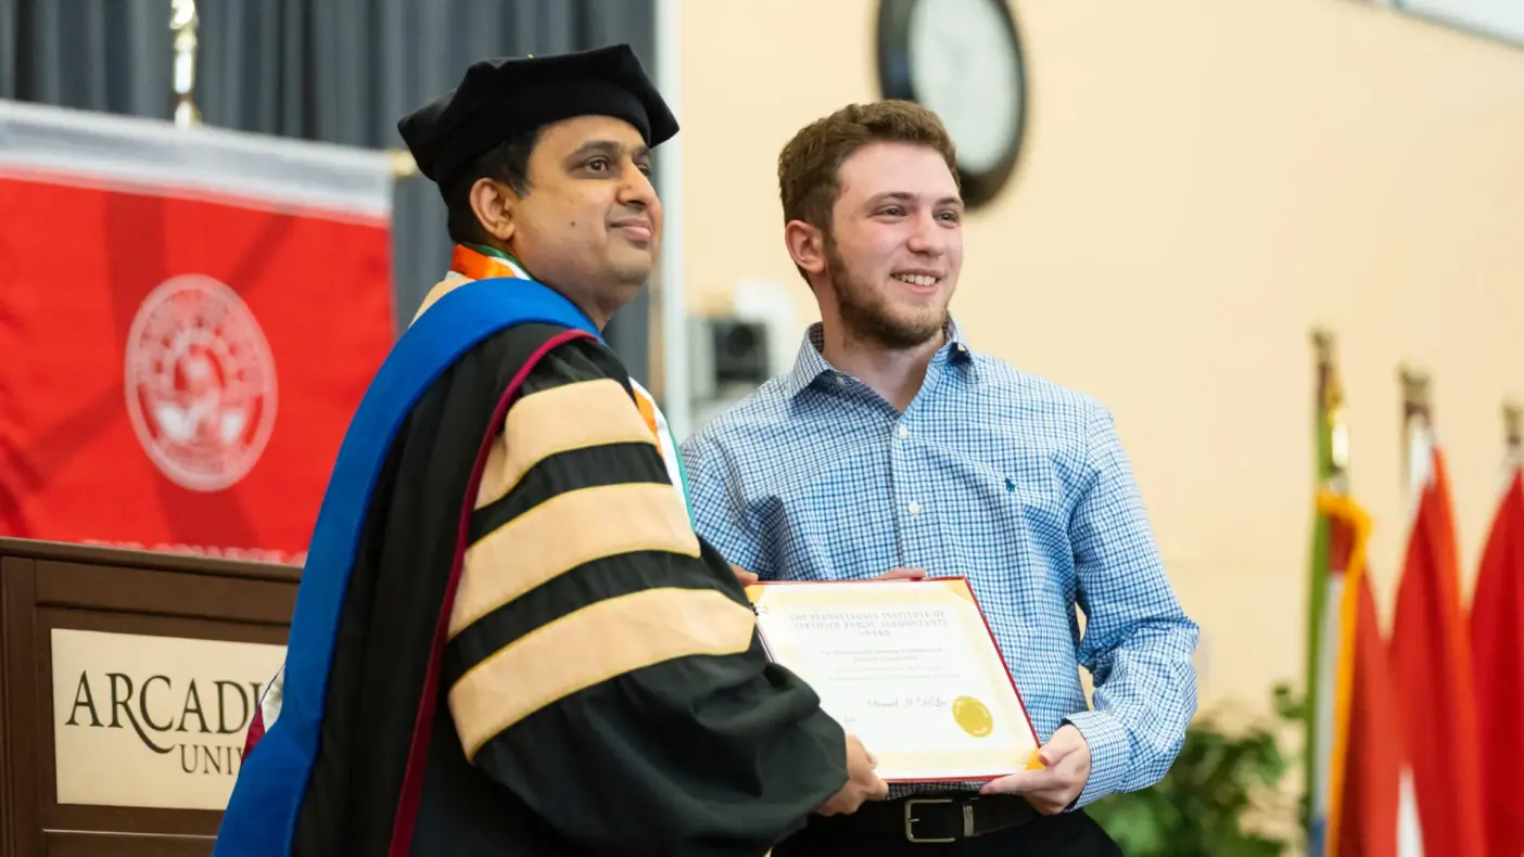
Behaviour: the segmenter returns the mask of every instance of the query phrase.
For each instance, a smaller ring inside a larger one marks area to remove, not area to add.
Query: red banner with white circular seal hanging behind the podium
[[[395,339],[383,152],[0,102],[0,536],[302,562]]]

